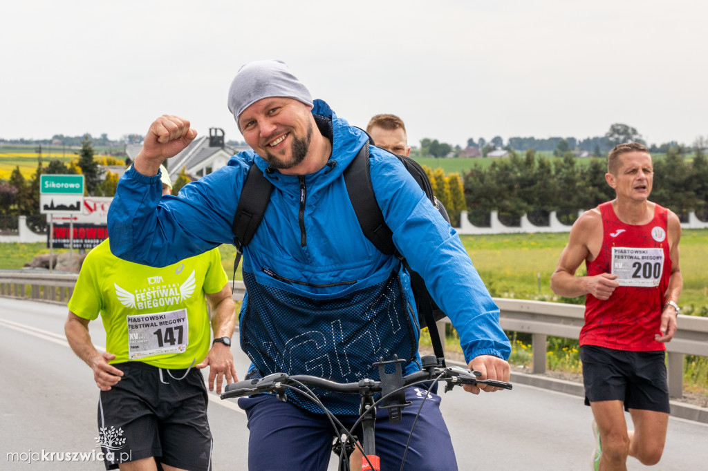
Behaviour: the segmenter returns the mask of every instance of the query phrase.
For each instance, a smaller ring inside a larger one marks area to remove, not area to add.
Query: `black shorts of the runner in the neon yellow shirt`
[[[105,469],[155,457],[185,470],[211,470],[212,434],[201,371],[167,370],[138,361],[113,366],[123,376],[109,391],[101,391],[98,400]]]

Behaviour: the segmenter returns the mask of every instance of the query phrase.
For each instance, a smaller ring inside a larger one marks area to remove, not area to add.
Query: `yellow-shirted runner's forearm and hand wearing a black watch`
[[[212,313],[212,331],[214,338],[220,337],[231,338],[234,335],[236,327],[236,310],[234,308],[234,299],[232,298],[229,285],[226,284],[218,293],[207,293]],[[197,368],[205,368],[209,366],[209,390],[214,390],[216,385],[217,393],[221,394],[222,383],[226,380],[227,384],[238,381],[236,376],[236,366],[234,366],[234,355],[231,347],[220,342],[215,342],[209,349],[209,353],[205,359],[197,365]]]

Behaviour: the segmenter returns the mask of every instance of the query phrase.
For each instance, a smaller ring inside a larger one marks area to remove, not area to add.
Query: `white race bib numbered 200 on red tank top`
[[[658,286],[663,274],[662,248],[612,248],[612,274],[619,286]]]

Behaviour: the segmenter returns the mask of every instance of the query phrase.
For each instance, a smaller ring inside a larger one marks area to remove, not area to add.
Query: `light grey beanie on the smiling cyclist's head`
[[[292,75],[285,62],[254,61],[241,66],[229,88],[229,111],[234,114],[236,124],[247,107],[272,96],[293,98],[312,106],[307,87]]]

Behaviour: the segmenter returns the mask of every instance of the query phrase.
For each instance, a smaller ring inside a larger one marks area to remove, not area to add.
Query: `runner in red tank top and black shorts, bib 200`
[[[664,355],[683,287],[680,221],[649,201],[649,150],[619,144],[607,158],[605,179],[617,198],[573,224],[551,278],[559,296],[587,295],[583,382],[595,417],[593,469],[603,471],[626,470],[627,455],[645,465],[661,459],[669,413]],[[588,274],[576,277],[583,261]],[[623,407],[634,431],[627,431]]]

